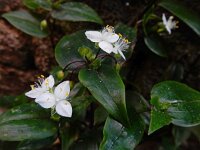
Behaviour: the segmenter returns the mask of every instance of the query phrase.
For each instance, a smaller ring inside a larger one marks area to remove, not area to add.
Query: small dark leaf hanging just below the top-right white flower
[[[147,36],[144,38],[144,42],[153,53],[161,57],[167,57],[166,48],[159,36]]]

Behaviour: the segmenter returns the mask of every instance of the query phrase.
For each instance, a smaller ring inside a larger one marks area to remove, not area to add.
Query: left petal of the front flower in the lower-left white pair
[[[51,108],[55,105],[56,99],[55,96],[51,93],[44,93],[41,96],[35,99],[35,102],[38,103],[43,108]]]

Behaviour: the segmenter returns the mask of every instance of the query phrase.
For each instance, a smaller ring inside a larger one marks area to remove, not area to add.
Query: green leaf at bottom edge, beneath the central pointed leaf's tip
[[[143,131],[144,125],[140,118],[134,118],[131,127],[127,128],[108,117],[103,130],[104,138],[100,150],[134,149],[141,140]]]

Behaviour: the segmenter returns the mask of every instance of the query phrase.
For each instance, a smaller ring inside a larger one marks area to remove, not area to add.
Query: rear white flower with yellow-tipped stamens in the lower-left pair
[[[37,98],[40,95],[49,91],[50,88],[54,86],[54,78],[50,75],[48,78],[44,79],[44,76],[41,75],[38,79],[38,82],[35,82],[35,85],[31,85],[32,90],[25,93],[26,96],[30,98]]]

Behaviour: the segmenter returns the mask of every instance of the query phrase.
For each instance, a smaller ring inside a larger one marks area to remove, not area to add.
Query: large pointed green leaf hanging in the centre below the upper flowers
[[[82,69],[79,80],[115,119],[128,124],[125,87],[116,70],[107,66]]]

